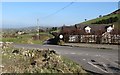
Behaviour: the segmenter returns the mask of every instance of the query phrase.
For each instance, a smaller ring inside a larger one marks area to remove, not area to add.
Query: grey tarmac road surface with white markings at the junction
[[[87,71],[94,73],[120,73],[120,68],[118,67],[118,50],[116,49],[108,50],[32,44],[14,44],[14,46],[16,48],[52,49],[58,54],[77,62]]]

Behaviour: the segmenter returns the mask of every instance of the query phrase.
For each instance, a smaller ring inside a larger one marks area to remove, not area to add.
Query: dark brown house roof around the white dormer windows
[[[62,32],[69,34],[86,34],[85,27],[91,28],[90,34],[103,34],[107,31],[107,28],[112,26],[111,24],[75,24],[75,26],[63,26]]]

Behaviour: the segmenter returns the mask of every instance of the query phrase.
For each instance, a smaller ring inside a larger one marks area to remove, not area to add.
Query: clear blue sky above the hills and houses
[[[37,26],[37,19],[40,26],[73,25],[117,9],[117,2],[3,2],[2,26]]]

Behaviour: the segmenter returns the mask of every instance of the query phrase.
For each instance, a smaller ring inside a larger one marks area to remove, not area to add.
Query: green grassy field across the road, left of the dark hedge
[[[14,43],[23,43],[23,44],[43,44],[43,42],[51,37],[53,37],[49,33],[40,33],[40,39],[34,40],[32,39],[33,35],[24,34],[24,35],[18,35],[17,38],[7,37],[2,38],[0,41],[3,42],[14,42]]]

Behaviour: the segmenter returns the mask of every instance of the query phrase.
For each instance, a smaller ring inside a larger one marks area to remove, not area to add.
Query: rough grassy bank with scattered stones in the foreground
[[[3,73],[80,73],[87,75],[81,66],[61,57],[54,50],[3,48]]]

